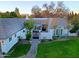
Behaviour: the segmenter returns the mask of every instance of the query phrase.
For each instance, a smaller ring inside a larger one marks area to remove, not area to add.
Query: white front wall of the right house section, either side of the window
[[[54,35],[54,30],[55,29],[49,29],[48,32],[41,32],[40,39],[52,39]],[[69,32],[67,29],[63,29],[62,36],[67,36],[68,33]]]

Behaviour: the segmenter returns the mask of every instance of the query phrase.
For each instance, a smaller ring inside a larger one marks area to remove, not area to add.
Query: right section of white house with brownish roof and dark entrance
[[[68,35],[66,18],[33,18],[33,20],[36,22],[37,29],[33,32],[34,39],[52,39],[53,36]]]

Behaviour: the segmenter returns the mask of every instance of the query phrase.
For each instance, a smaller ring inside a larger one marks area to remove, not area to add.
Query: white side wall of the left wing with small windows
[[[25,32],[23,32],[23,30],[25,30]],[[4,44],[1,45],[2,52],[7,53],[18,42],[18,36],[21,36],[22,39],[26,38],[26,29],[23,30],[17,32],[16,37],[15,34],[12,35],[12,39],[10,42],[9,38],[5,40]]]

